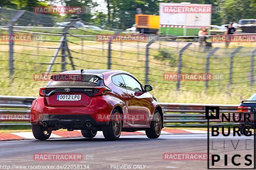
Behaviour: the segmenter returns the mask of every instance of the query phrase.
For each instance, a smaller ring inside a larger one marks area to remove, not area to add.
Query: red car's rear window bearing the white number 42
[[[103,79],[97,75],[91,74],[62,74],[52,75],[46,86],[54,87],[83,87],[83,86],[101,86]]]

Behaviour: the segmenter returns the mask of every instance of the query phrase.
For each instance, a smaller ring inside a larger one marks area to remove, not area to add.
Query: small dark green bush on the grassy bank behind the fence
[[[154,59],[168,62],[170,66],[176,66],[176,54],[167,48],[159,48]]]

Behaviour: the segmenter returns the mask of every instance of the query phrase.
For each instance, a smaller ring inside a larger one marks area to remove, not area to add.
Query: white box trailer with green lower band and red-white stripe
[[[160,30],[164,35],[193,36],[211,25],[211,4],[160,3]]]

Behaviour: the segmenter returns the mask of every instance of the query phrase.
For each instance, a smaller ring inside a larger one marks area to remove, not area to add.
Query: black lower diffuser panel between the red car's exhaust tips
[[[49,115],[44,114],[39,121],[31,122],[31,124],[41,124],[46,122],[47,127],[58,128],[87,128],[86,122],[90,122],[92,127],[98,125],[106,125],[108,122],[96,122],[90,115]]]

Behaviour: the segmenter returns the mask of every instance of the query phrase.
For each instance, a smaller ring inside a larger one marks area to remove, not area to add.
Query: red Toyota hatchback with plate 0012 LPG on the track
[[[117,140],[121,131],[145,130],[158,138],[163,110],[132,74],[122,70],[71,70],[52,75],[31,106],[33,135],[46,140],[52,130],[81,130],[84,137],[103,131],[107,140]]]

